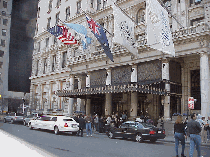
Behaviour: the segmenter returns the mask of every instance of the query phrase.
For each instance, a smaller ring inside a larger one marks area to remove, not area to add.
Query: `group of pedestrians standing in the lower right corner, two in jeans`
[[[200,146],[201,143],[207,143],[210,139],[210,117],[205,121],[205,117],[191,115],[191,120],[187,122],[187,119],[183,121],[182,116],[178,115],[174,124],[174,138],[175,138],[175,151],[176,157],[178,157],[179,141],[181,141],[182,152],[181,157],[185,157],[185,139],[190,137],[190,153],[189,156],[193,157],[194,147],[196,146],[198,157],[201,157]]]

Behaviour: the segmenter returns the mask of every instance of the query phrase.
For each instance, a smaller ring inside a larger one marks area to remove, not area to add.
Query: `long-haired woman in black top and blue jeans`
[[[181,141],[182,145],[182,153],[181,157],[186,157],[184,155],[184,149],[185,149],[185,124],[182,121],[182,116],[178,115],[177,120],[174,124],[174,138],[175,138],[175,151],[176,151],[176,157],[178,157],[178,148],[179,148],[179,141]]]

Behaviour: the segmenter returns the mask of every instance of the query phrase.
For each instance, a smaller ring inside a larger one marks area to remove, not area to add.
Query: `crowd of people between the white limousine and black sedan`
[[[127,120],[127,115],[123,112],[121,117],[118,113],[108,115],[106,117],[99,116],[96,114],[91,116],[74,115],[74,120],[79,123],[78,136],[83,136],[83,129],[86,129],[87,136],[92,136],[92,132],[97,131],[99,133],[105,133],[109,127],[118,127],[122,122]]]

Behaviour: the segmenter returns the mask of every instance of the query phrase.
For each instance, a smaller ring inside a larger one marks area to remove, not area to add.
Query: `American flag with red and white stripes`
[[[77,44],[77,40],[74,38],[74,36],[71,35],[71,33],[68,32],[68,29],[64,26],[56,25],[52,28],[49,28],[47,31],[66,45]]]

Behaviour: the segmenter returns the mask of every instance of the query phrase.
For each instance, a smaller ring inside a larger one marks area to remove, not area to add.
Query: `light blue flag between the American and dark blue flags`
[[[83,49],[87,49],[87,46],[91,44],[91,38],[87,37],[87,29],[83,25],[74,24],[74,23],[64,23],[69,28],[76,31],[81,35]]]

